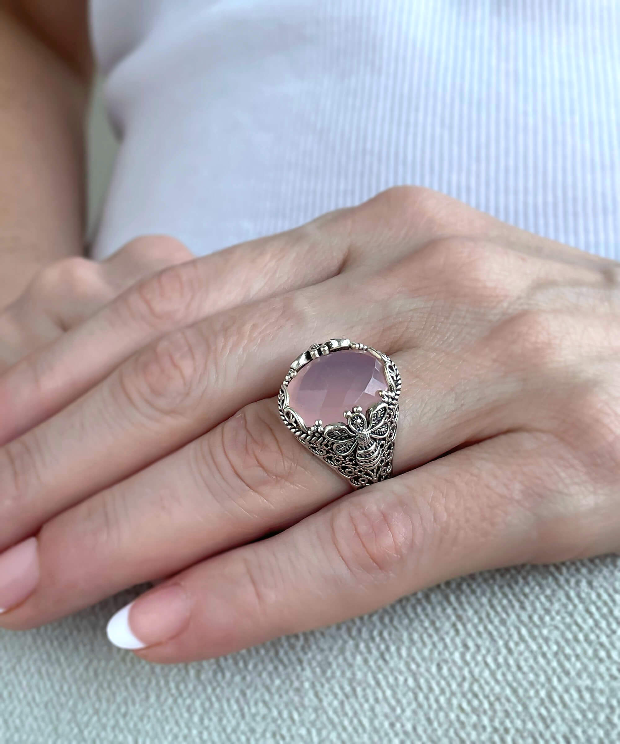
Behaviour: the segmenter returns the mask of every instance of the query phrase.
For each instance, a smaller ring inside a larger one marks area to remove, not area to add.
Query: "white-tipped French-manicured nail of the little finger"
[[[179,635],[190,617],[190,601],[179,584],[153,589],[119,610],[108,623],[110,643],[138,650]]]

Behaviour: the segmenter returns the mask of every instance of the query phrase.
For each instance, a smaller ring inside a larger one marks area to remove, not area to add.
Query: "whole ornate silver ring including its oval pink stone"
[[[362,488],[392,475],[399,396],[400,373],[389,356],[330,339],[290,365],[278,408],[313,455]]]

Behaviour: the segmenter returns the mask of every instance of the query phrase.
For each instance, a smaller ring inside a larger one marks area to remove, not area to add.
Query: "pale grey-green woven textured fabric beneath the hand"
[[[620,559],[479,574],[226,658],[150,667],[125,594],[0,632],[2,744],[613,744]]]

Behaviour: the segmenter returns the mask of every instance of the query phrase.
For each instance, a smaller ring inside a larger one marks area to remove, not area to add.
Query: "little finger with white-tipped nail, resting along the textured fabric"
[[[340,499],[167,580],[110,623],[149,661],[228,654],[487,568],[604,550],[609,513],[558,488],[544,435],[506,434]],[[557,461],[557,460],[556,460]],[[585,517],[585,519],[584,519]]]

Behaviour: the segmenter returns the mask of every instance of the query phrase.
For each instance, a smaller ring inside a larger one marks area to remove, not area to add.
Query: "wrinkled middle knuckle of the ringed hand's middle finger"
[[[125,397],[145,414],[182,414],[195,407],[207,354],[191,328],[168,333],[118,371]]]

